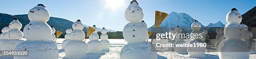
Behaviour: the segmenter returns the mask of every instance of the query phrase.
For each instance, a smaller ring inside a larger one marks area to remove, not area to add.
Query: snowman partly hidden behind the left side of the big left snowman
[[[24,40],[20,40],[23,38],[23,32],[20,31],[22,25],[18,21],[17,18],[14,18],[12,22],[9,24],[10,30],[5,34],[8,40],[2,40],[2,49],[1,50],[15,50],[15,47]]]

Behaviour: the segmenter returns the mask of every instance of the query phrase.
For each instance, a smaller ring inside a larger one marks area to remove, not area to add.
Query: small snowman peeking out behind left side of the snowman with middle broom
[[[72,30],[70,27],[67,28],[67,30],[66,30],[66,33],[67,33],[67,34],[65,34],[65,40],[64,40],[64,41],[62,42],[62,44],[61,44],[62,49],[65,49],[67,43],[68,43],[69,41],[71,41],[70,33],[71,33],[72,31],[73,31],[73,30]]]

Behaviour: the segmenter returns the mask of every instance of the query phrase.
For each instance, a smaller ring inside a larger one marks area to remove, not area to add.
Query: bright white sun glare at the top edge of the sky
[[[107,7],[112,7],[113,9],[123,6],[123,0],[106,0]]]

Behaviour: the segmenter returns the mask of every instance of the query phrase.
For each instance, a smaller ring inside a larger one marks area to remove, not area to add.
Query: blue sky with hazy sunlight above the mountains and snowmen
[[[122,31],[128,23],[124,11],[131,0],[1,0],[0,12],[10,15],[28,14],[39,3],[46,6],[51,17],[70,21],[80,19],[84,25]],[[218,21],[227,24],[226,14],[237,8],[241,14],[256,6],[256,0],[137,0],[145,22],[154,24],[154,10],[166,13],[184,12],[203,25]]]

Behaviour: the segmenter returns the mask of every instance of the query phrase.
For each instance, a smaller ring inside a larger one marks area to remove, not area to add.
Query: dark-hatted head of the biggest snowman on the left
[[[30,21],[47,22],[50,19],[50,14],[43,4],[38,4],[28,11],[28,19]]]

